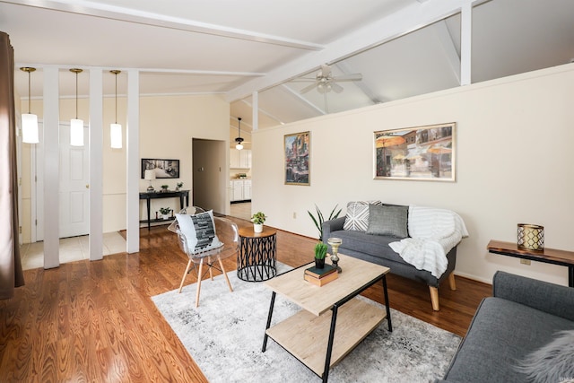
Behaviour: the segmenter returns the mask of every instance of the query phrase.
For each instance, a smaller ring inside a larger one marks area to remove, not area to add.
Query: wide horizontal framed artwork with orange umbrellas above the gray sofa
[[[374,135],[374,178],[456,180],[456,123],[380,130]]]

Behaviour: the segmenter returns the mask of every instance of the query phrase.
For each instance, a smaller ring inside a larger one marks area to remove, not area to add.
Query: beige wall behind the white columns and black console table
[[[124,147],[109,147],[109,124],[114,122],[115,100],[104,99],[103,132],[103,231],[126,229],[126,99],[117,99],[117,122],[123,126]],[[78,118],[89,121],[89,102],[78,100]],[[33,100],[31,109],[41,120],[42,101]],[[159,188],[167,184],[171,189],[181,181],[184,188],[192,186],[191,143],[192,138],[213,140],[229,139],[229,103],[222,96],[172,96],[142,97],[140,99],[140,158],[169,158],[180,161],[180,178],[153,181]],[[69,121],[75,116],[75,100],[60,100],[60,119]],[[41,138],[40,138],[41,139]],[[22,144],[22,241],[30,242],[30,149],[32,145]],[[228,170],[226,170],[228,171]],[[147,181],[140,181],[143,191]],[[191,204],[192,201],[190,201]],[[161,206],[178,209],[176,199],[152,201],[152,212]],[[145,215],[143,202],[141,217]],[[154,215],[152,213],[152,215]]]

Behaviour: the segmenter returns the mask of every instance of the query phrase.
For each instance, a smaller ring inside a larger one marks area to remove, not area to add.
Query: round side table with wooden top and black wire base
[[[267,226],[262,232],[253,225],[239,229],[237,276],[242,281],[261,282],[277,274],[275,264],[277,231]]]

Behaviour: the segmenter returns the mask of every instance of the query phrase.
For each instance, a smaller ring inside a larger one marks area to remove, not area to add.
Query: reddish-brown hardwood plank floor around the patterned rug
[[[278,231],[277,259],[308,263],[315,243]],[[140,248],[25,271],[26,285],[13,299],[0,300],[0,381],[206,381],[151,300],[178,288],[187,257],[165,226],[143,229]],[[233,270],[235,259],[225,265]],[[189,274],[187,283],[195,282]],[[440,311],[434,312],[422,283],[395,275],[387,282],[392,308],[458,335],[465,335],[478,303],[491,294],[490,285],[457,277],[458,290],[442,287]],[[366,295],[384,302],[381,290],[372,287]]]

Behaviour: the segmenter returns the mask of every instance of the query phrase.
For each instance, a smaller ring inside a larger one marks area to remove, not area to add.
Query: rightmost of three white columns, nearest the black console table
[[[133,69],[127,72],[127,179],[126,206],[127,231],[126,251],[140,251],[140,83],[139,71]]]

